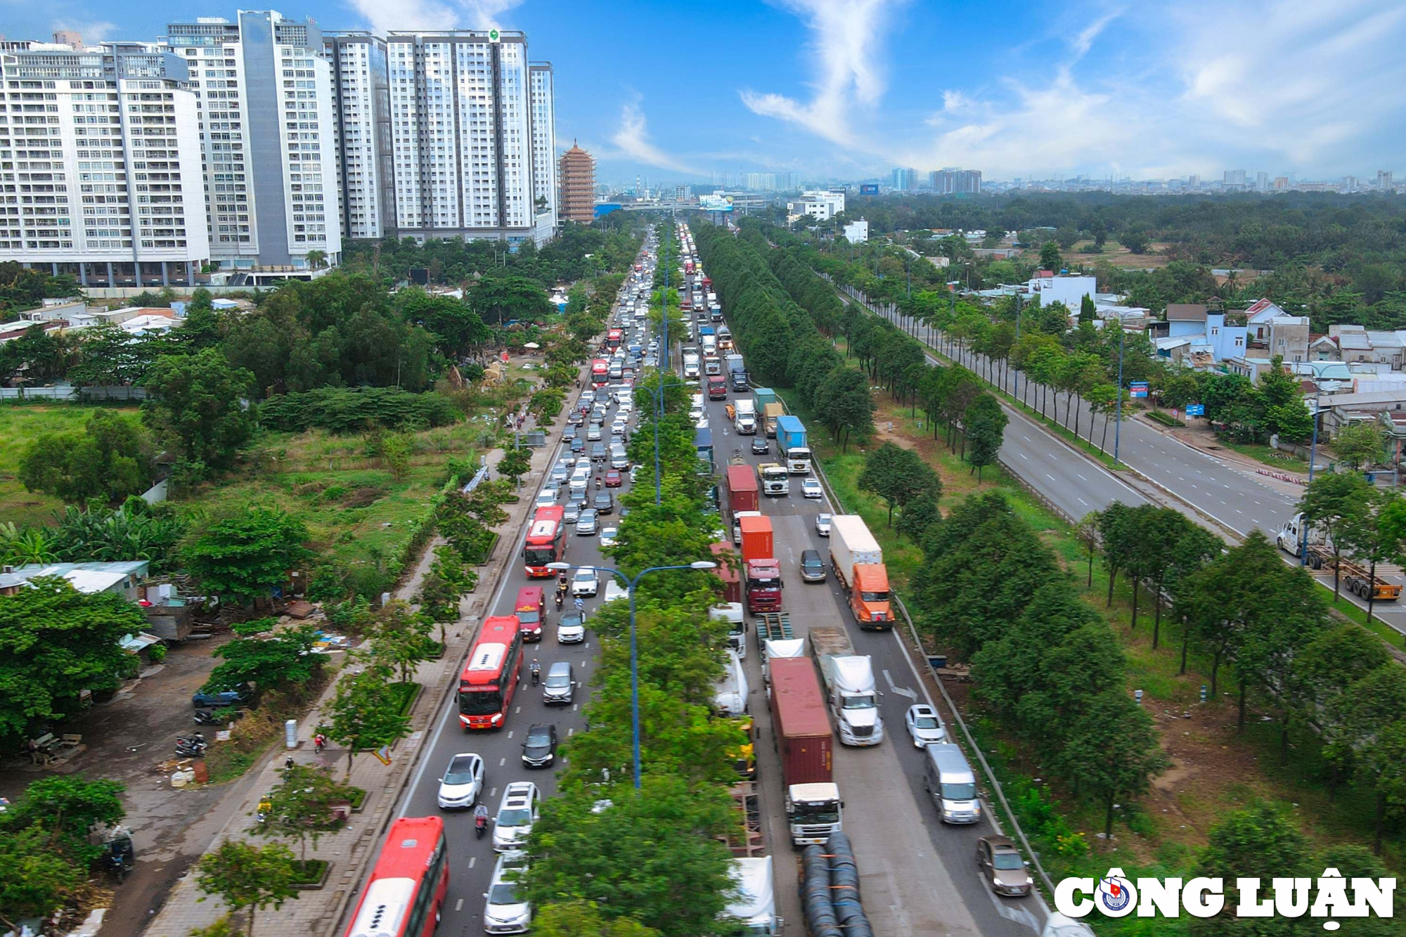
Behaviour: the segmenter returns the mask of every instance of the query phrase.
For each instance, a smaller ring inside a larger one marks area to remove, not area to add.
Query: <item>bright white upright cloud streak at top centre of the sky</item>
[[[879,58],[883,30],[898,0],[785,0],[806,20],[818,75],[808,103],[776,93],[744,90],[742,103],[755,114],[796,124],[841,146],[858,146],[855,104],[873,108],[884,93]]]

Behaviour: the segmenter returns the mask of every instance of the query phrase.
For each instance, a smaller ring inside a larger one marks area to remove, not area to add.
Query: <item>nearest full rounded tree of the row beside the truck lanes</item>
[[[1109,732],[1109,726],[1118,726],[1118,732]],[[1084,703],[1059,760],[1074,789],[1104,805],[1105,837],[1114,834],[1114,806],[1146,793],[1168,764],[1157,746],[1152,716],[1121,688]]]

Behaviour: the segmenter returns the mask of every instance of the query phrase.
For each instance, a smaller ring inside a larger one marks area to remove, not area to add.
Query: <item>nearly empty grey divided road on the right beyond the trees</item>
[[[845,301],[852,300],[844,291],[839,293],[839,297]],[[853,297],[853,301],[862,302],[858,297]],[[915,335],[928,348],[932,348],[932,342],[941,340],[936,338],[941,335],[939,332],[915,325],[891,307],[876,310],[872,305],[863,305],[884,315],[910,335]],[[983,376],[988,370],[988,362],[983,355],[956,348],[955,356],[962,364]],[[931,355],[928,360],[938,363]],[[997,363],[991,373],[995,374],[997,381],[1008,394],[1014,395],[1019,387],[1024,400],[1035,400],[1033,388],[1024,373],[1019,374],[1018,384],[1015,369],[1002,371]],[[1053,416],[1054,408],[1057,408],[1060,422],[1070,422],[1064,415],[1069,395],[1052,390],[1049,400],[1049,414]],[[1081,426],[1091,425],[1094,415],[1087,402],[1081,404],[1076,400],[1074,411]],[[1012,419],[1001,447],[1002,461],[1070,516],[1083,516],[1085,512],[1102,509],[1114,501],[1123,504],[1146,501],[1115,473],[1076,452],[1054,438],[1049,429],[1021,414],[1019,409],[1007,407],[1007,412],[1011,414]],[[1111,443],[1109,452],[1112,452]],[[1299,485],[1271,480],[1240,463],[1218,459],[1159,432],[1139,419],[1123,419],[1118,456],[1137,474],[1166,492],[1164,498],[1157,499],[1161,504],[1191,516],[1199,515],[1197,519],[1202,522],[1209,518],[1220,528],[1233,530],[1241,537],[1251,530],[1260,530],[1274,542],[1284,522],[1296,512],[1298,499],[1302,497]],[[1064,467],[1063,471],[1054,467],[1056,463]],[[1088,484],[1091,480],[1092,485]],[[1129,492],[1132,497],[1126,497]],[[1085,506],[1090,504],[1094,506]],[[1296,563],[1289,554],[1282,556],[1286,563]],[[1381,564],[1376,568],[1378,575],[1384,580],[1406,585],[1406,574],[1399,566]],[[1331,588],[1333,573],[1330,570],[1313,575],[1319,582]],[[1365,601],[1347,591],[1343,591],[1343,598],[1360,608],[1365,609],[1367,606]],[[1378,602],[1372,611],[1388,626],[1406,635],[1406,604]]]

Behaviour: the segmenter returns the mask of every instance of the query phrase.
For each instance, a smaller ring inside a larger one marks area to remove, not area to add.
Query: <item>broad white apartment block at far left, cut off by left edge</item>
[[[153,45],[7,42],[0,257],[89,287],[194,284],[209,242],[184,79]]]

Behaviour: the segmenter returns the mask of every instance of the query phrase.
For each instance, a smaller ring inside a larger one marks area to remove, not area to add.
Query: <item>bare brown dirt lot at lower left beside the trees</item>
[[[79,753],[39,768],[15,760],[0,764],[0,796],[14,799],[31,781],[51,772],[112,778],[127,785],[127,824],[136,846],[136,869],[115,892],[103,937],[135,937],[172,885],[200,857],[229,819],[249,779],[177,791],[156,763],[170,757],[176,736],[197,726],[191,694],[205,682],[221,639],[174,647],[165,663],[122,688],[112,702],[94,706],[55,732],[83,734]],[[211,726],[202,727],[214,737]],[[247,775],[252,777],[252,775]]]

